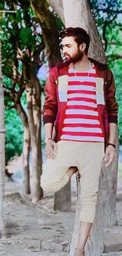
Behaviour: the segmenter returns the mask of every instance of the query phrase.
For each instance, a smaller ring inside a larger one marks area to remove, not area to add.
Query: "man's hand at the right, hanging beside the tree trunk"
[[[105,150],[104,160],[107,161],[109,159],[109,162],[105,165],[106,168],[112,164],[114,157],[115,157],[115,148],[109,145]]]

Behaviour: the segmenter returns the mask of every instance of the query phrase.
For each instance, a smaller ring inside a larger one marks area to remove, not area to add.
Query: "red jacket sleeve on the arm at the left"
[[[43,106],[43,124],[52,123],[57,117],[57,84],[56,68],[50,70],[50,76],[46,80],[45,102]]]

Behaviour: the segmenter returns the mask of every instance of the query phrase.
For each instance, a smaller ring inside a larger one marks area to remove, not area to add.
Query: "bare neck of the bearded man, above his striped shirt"
[[[83,55],[83,58],[73,64],[73,68],[77,71],[85,71],[91,69],[91,62],[88,60],[86,55]]]

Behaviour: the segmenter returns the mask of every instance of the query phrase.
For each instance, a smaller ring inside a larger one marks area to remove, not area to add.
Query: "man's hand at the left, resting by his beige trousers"
[[[53,139],[48,139],[46,142],[45,151],[46,158],[49,158],[51,160],[55,159],[57,153],[57,143],[55,143]]]

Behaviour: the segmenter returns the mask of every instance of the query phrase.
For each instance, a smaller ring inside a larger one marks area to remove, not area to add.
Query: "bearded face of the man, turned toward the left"
[[[62,48],[66,61],[71,60],[71,62],[75,63],[83,58],[83,51],[79,50],[79,46],[73,36],[67,36],[62,39]]]

